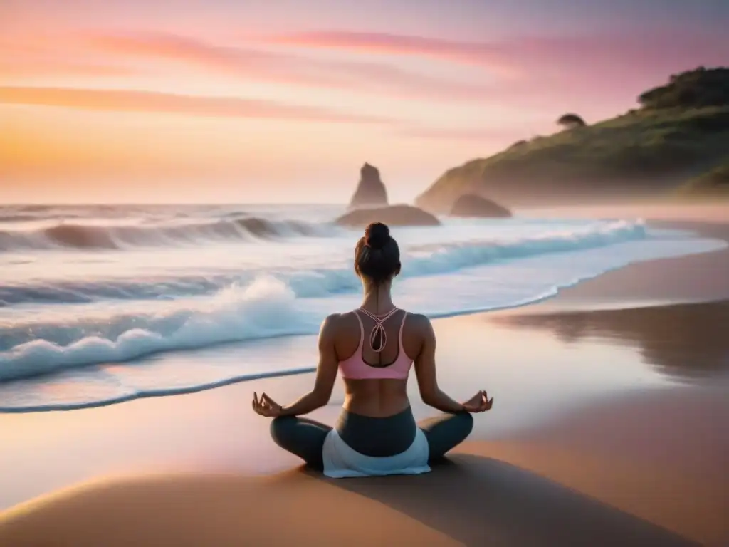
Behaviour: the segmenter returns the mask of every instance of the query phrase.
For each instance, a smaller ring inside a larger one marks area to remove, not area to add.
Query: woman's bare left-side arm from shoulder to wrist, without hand
[[[339,366],[334,345],[335,327],[338,318],[338,315],[330,315],[321,323],[321,329],[319,330],[319,365],[316,367],[316,380],[313,389],[295,403],[281,407],[279,416],[308,414],[329,403]]]

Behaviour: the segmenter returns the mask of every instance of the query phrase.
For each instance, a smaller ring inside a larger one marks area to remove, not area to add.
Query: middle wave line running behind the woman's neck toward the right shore
[[[507,242],[481,240],[412,247],[403,249],[401,276],[448,274],[497,260],[603,247],[620,241],[642,239],[646,235],[643,222],[619,220]],[[248,270],[206,276],[199,273],[178,273],[146,277],[142,280],[126,278],[6,284],[0,286],[0,306],[24,303],[84,303],[101,299],[171,300],[197,297],[213,295],[232,285],[248,284],[261,274],[270,274],[281,279],[292,287],[299,298],[324,297],[358,290],[360,287],[359,279],[354,276],[351,265],[347,264],[341,268]]]

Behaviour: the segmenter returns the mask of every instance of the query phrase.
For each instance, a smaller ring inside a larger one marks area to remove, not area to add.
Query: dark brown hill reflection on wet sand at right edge
[[[649,308],[504,314],[491,321],[552,330],[566,343],[600,338],[635,345],[645,362],[684,381],[729,370],[729,301]]]

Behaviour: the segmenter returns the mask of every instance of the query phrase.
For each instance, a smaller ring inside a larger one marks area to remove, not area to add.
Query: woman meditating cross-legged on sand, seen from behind
[[[271,435],[278,446],[327,476],[424,473],[469,435],[471,414],[488,411],[494,400],[480,391],[457,403],[438,387],[429,319],[397,309],[391,300],[400,253],[386,225],[367,226],[354,269],[364,287],[362,306],[324,319],[313,390],[288,406],[254,393],[253,409],[274,418]],[[406,392],[413,362],[424,403],[446,413],[420,424]],[[338,370],[346,396],[336,427],[297,417],[329,402]]]

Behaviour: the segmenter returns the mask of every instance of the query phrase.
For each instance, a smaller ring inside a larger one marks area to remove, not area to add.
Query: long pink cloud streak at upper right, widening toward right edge
[[[646,31],[565,37],[523,37],[468,42],[376,32],[317,31],[269,36],[263,42],[314,49],[445,58],[484,66],[502,74],[609,71],[609,76],[647,69],[663,77],[700,64],[729,59],[729,35],[707,32]]]

